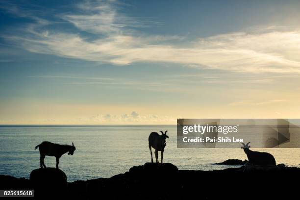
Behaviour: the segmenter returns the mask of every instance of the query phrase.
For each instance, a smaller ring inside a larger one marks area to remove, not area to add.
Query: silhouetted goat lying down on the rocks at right
[[[250,142],[245,145],[244,143],[241,149],[244,149],[245,153],[247,154],[248,160],[253,165],[276,165],[275,158],[272,154],[267,152],[258,152],[252,151],[249,148]]]

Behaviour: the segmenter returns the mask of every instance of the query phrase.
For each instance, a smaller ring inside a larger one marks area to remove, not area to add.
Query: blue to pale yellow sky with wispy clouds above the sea
[[[0,124],[300,118],[300,1],[0,2]]]

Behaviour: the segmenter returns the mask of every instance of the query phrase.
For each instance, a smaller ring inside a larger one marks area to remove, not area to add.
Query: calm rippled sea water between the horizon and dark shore
[[[111,177],[149,162],[148,136],[159,130],[169,130],[164,162],[181,170],[224,169],[228,166],[214,163],[247,159],[241,149],[177,149],[175,125],[0,126],[0,174],[28,178],[40,167],[39,150],[34,147],[50,141],[75,144],[74,155],[64,154],[59,163],[68,181]],[[300,167],[300,149],[264,151],[271,152],[277,163]],[[45,164],[55,167],[55,157],[46,156]]]

